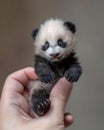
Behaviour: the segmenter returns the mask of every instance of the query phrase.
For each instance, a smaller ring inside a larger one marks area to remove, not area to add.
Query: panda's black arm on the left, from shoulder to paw
[[[35,56],[35,72],[42,82],[49,83],[55,79],[49,61],[38,55]]]

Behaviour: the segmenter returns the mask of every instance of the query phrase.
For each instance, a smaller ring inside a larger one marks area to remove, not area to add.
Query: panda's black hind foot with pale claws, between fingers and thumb
[[[45,115],[50,108],[49,94],[45,89],[35,90],[31,98],[31,106],[38,116]]]

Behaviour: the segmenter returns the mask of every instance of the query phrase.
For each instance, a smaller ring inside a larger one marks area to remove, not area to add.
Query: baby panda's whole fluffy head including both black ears
[[[34,29],[35,54],[50,61],[59,61],[74,49],[76,27],[71,22],[50,19]]]

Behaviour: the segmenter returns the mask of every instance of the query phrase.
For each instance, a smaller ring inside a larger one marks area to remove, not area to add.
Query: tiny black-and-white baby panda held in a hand
[[[34,29],[34,67],[39,79],[29,83],[30,106],[35,114],[43,116],[50,108],[50,92],[61,77],[76,82],[81,66],[75,56],[74,34],[76,27],[72,22],[49,19]]]

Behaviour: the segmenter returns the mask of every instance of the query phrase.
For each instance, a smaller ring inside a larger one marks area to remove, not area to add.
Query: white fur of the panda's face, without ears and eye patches
[[[67,42],[67,47],[61,48],[58,46],[58,39]],[[50,47],[46,51],[42,51],[41,47],[44,45],[45,41],[50,43]],[[71,31],[64,26],[64,21],[60,19],[50,19],[40,26],[34,45],[35,54],[50,60],[50,54],[60,53],[60,56],[64,58],[74,49],[74,36]]]

